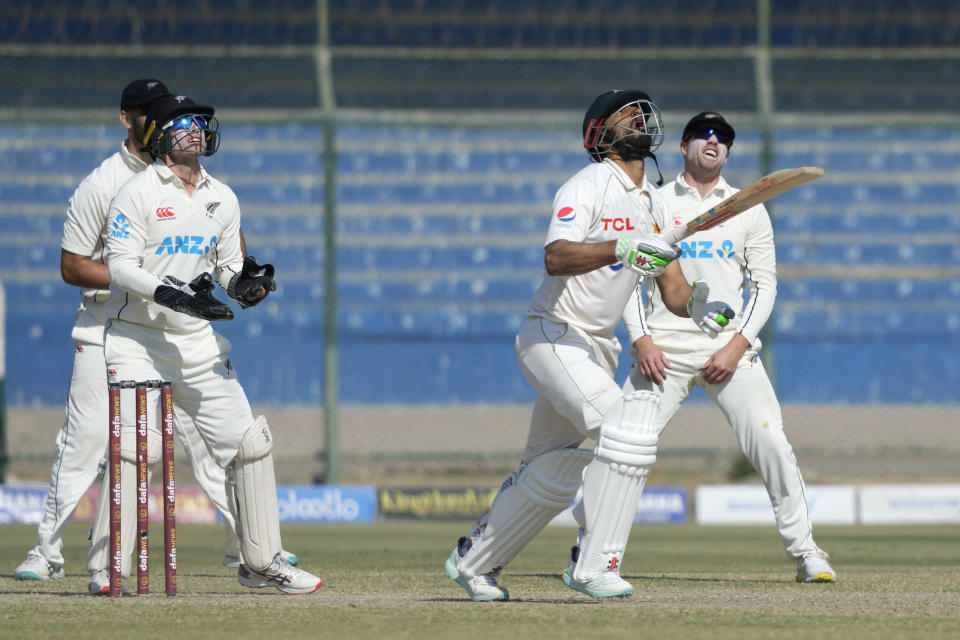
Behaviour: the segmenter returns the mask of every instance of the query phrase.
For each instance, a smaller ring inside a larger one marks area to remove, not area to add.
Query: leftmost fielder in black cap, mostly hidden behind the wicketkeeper
[[[110,277],[104,264],[107,240],[107,210],[110,201],[128,179],[152,162],[142,148],[143,124],[147,108],[157,99],[170,95],[159,80],[139,79],[130,82],[120,97],[120,122],[127,137],[120,150],[107,158],[77,187],[67,207],[60,243],[60,272],[64,282],[82,288],[82,301],[77,311],[71,338],[75,343],[73,372],[67,395],[66,419],[57,436],[50,485],[44,503],[44,514],[37,533],[37,545],[17,566],[17,580],[49,580],[64,577],[63,531],[87,488],[93,483],[107,448],[107,384],[103,359],[103,302],[109,296]],[[190,460],[194,475],[224,516],[227,529],[225,564],[239,564],[239,546],[233,518],[227,507],[223,471],[212,460],[192,421],[182,412],[175,420],[177,432]],[[130,465],[132,467],[132,464]],[[102,500],[102,498],[101,498]],[[133,513],[131,501],[125,505]],[[133,548],[133,517],[125,531],[125,548]],[[102,532],[97,528],[102,524]],[[103,538],[106,549],[107,522],[98,522],[92,535]],[[96,550],[96,544],[92,551]],[[125,554],[129,572],[129,554]],[[100,592],[100,585],[91,580],[91,591]],[[106,588],[104,586],[104,588]]]

